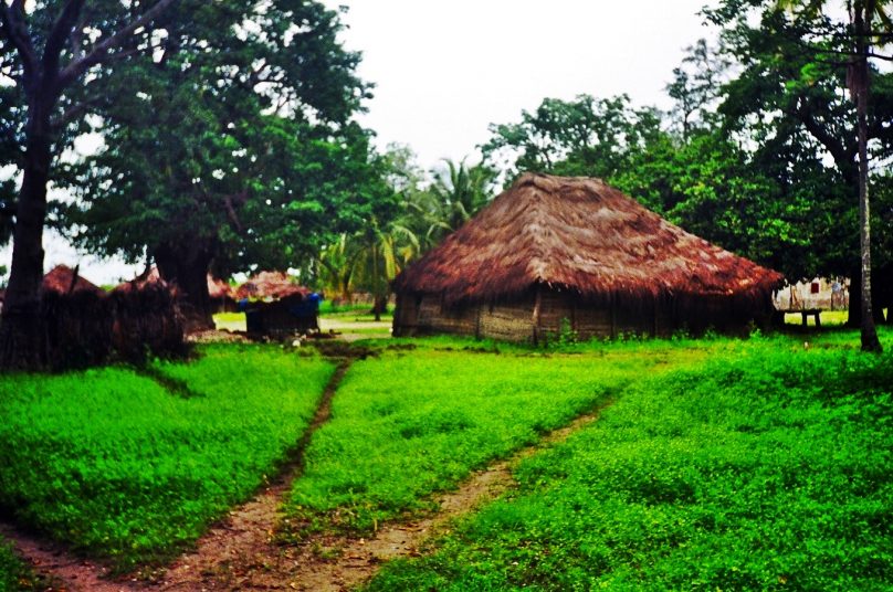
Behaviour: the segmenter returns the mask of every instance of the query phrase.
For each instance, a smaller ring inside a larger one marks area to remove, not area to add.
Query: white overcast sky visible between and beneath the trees
[[[517,121],[546,97],[628,94],[668,108],[664,86],[698,38],[707,0],[323,0],[347,6],[347,49],[363,52],[359,75],[375,83],[361,123],[377,144],[409,145],[426,169],[476,158],[490,124]],[[78,255],[45,241],[49,269],[81,263],[95,283],[136,267]],[[9,266],[11,250],[0,251]]]

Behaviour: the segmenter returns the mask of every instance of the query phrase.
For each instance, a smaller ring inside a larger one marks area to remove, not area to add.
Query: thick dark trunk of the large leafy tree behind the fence
[[[208,272],[214,258],[212,240],[195,240],[188,244],[165,243],[153,257],[165,282],[179,290],[180,309],[187,331],[214,328],[211,297],[208,293]]]

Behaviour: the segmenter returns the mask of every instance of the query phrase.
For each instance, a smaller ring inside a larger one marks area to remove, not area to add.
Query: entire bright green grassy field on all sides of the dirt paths
[[[365,535],[433,509],[435,491],[613,401],[370,588],[881,590],[893,357],[858,342],[369,341],[380,356],[342,382],[284,532]],[[305,350],[217,345],[143,371],[0,378],[0,510],[122,570],[171,557],[301,437],[334,371]],[[20,569],[0,546],[0,586],[31,578]]]

